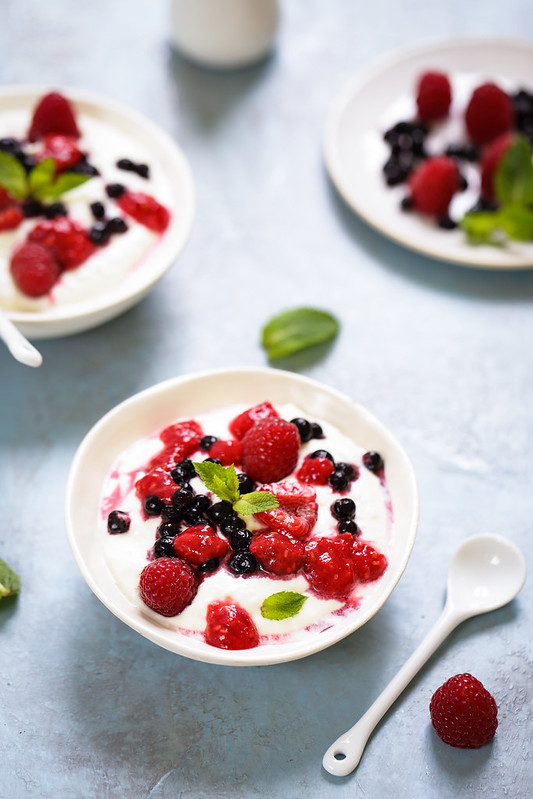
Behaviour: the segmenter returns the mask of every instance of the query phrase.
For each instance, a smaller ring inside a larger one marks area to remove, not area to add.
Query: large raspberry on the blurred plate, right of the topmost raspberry
[[[495,83],[478,86],[466,108],[465,124],[475,144],[487,144],[513,127],[511,98]]]

